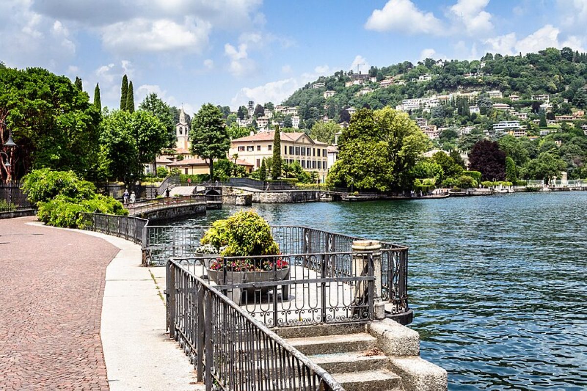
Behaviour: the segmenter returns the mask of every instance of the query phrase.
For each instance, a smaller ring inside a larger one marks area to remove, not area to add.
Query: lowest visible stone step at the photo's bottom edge
[[[402,390],[402,379],[392,372],[365,370],[360,372],[333,373],[332,377],[346,391]]]

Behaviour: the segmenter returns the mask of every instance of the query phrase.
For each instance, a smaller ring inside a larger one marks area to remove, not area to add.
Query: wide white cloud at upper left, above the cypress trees
[[[118,22],[102,29],[104,46],[114,52],[164,52],[187,50],[201,52],[208,45],[211,24],[185,18],[183,23],[170,19],[136,18]]]

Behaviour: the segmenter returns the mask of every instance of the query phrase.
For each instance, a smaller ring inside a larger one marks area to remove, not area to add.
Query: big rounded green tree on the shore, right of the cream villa
[[[389,191],[410,188],[411,168],[430,140],[406,113],[360,109],[339,137],[339,158],[329,183]]]

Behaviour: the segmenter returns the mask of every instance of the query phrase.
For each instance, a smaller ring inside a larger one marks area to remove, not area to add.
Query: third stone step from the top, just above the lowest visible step
[[[313,362],[329,373],[346,373],[360,370],[379,370],[386,368],[389,358],[375,350],[361,352],[330,353],[308,356]]]

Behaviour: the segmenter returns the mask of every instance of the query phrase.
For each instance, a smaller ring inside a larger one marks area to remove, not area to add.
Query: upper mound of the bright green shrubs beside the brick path
[[[33,170],[23,178],[22,190],[32,203],[46,202],[57,195],[85,199],[92,197],[96,186],[80,180],[73,171],[54,171],[50,168]]]

